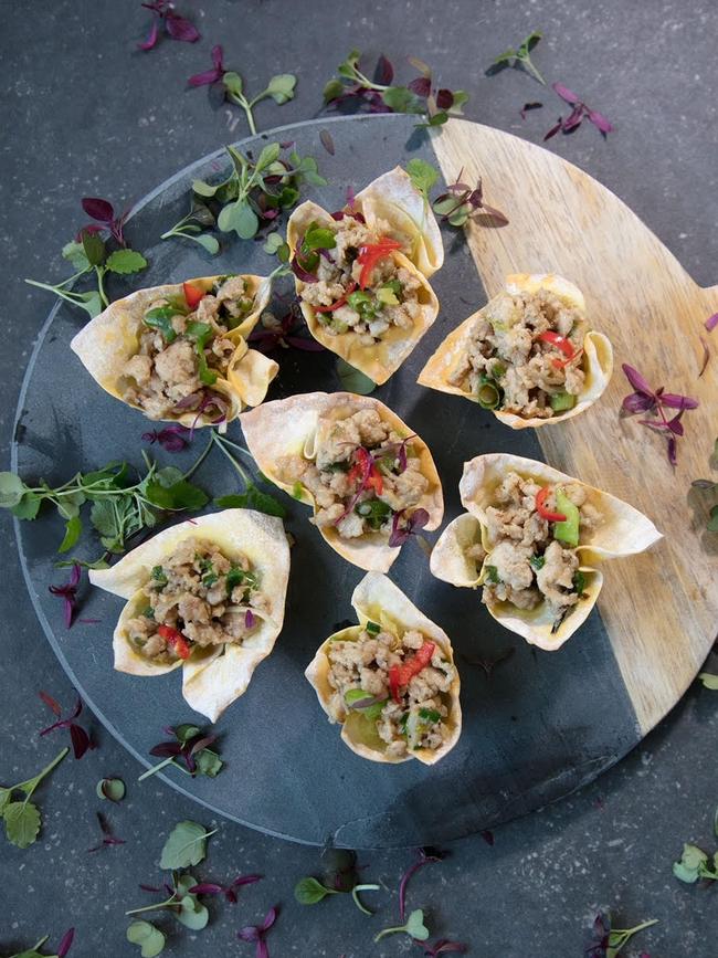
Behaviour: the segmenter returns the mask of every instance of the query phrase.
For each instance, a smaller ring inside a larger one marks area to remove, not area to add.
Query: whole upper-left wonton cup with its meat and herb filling
[[[250,275],[138,289],[70,345],[104,390],[148,419],[225,429],[263,401],[279,368],[246,344],[270,293],[270,280]]]

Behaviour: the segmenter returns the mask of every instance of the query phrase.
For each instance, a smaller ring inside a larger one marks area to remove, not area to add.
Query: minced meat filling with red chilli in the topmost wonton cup
[[[357,334],[365,346],[378,343],[392,327],[411,330],[422,309],[418,295],[421,282],[404,266],[398,267],[389,253],[377,262],[366,287],[360,288],[360,250],[376,244],[381,233],[351,215],[345,215],[332,232],[336,245],[321,249],[320,255],[315,253],[316,264],[309,265],[316,281],[307,283],[300,293],[303,302],[317,308],[317,322],[331,336]],[[319,312],[345,298],[338,308]]]

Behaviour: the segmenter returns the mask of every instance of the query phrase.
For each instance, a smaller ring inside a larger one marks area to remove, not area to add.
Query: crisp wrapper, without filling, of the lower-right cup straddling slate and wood
[[[663,536],[643,513],[609,493],[546,463],[508,453],[489,453],[464,463],[458,489],[462,504],[468,512],[446,526],[432,551],[431,571],[437,579],[472,589],[484,585],[495,545],[488,536],[485,509],[495,505],[495,489],[509,472],[534,480],[539,485],[581,485],[589,492],[591,504],[603,518],[602,524],[585,536],[585,540],[582,536],[581,544],[576,548],[579,569],[585,578],[584,596],[572,607],[556,632],[551,631],[553,621],[546,602],[536,609],[517,609],[510,602],[487,606],[494,619],[506,629],[521,635],[529,644],[551,652],[560,649],[577,631],[596,603],[603,575],[594,568],[594,564],[643,552]],[[466,550],[477,543],[486,550],[481,568],[466,555]]]

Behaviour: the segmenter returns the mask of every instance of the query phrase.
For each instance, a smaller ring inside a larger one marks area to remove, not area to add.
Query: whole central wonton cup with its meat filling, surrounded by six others
[[[266,402],[240,422],[261,472],[312,505],[310,522],[355,566],[386,572],[413,528],[441,524],[429,448],[378,399],[310,392]]]

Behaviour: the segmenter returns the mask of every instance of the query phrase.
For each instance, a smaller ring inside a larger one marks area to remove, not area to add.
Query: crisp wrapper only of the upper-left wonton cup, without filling
[[[199,280],[188,280],[192,286],[209,292],[219,276],[203,276]],[[247,406],[258,406],[266,396],[270,382],[277,375],[279,367],[273,359],[267,359],[256,349],[250,349],[246,337],[256,326],[260,315],[266,308],[272,293],[272,284],[264,276],[245,275],[243,278],[250,284],[250,291],[254,295],[254,309],[234,329],[223,334],[224,339],[231,339],[236,349],[230,359],[226,378],[219,377],[211,387],[213,392],[225,397],[229,409],[226,418],[220,430],[226,429],[226,423],[240,414]],[[83,366],[102,388],[138,409],[144,414],[145,410],[123,398],[120,382],[125,366],[139,349],[139,334],[142,331],[142,318],[150,304],[162,297],[182,296],[182,284],[173,283],[166,286],[151,286],[148,289],[137,289],[116,299],[109,306],[95,316],[94,319],[77,333],[70,344],[74,352],[80,357]],[[197,411],[178,412],[163,419],[163,422],[179,422],[187,427],[212,425],[217,420],[217,410],[212,409],[207,414]]]

